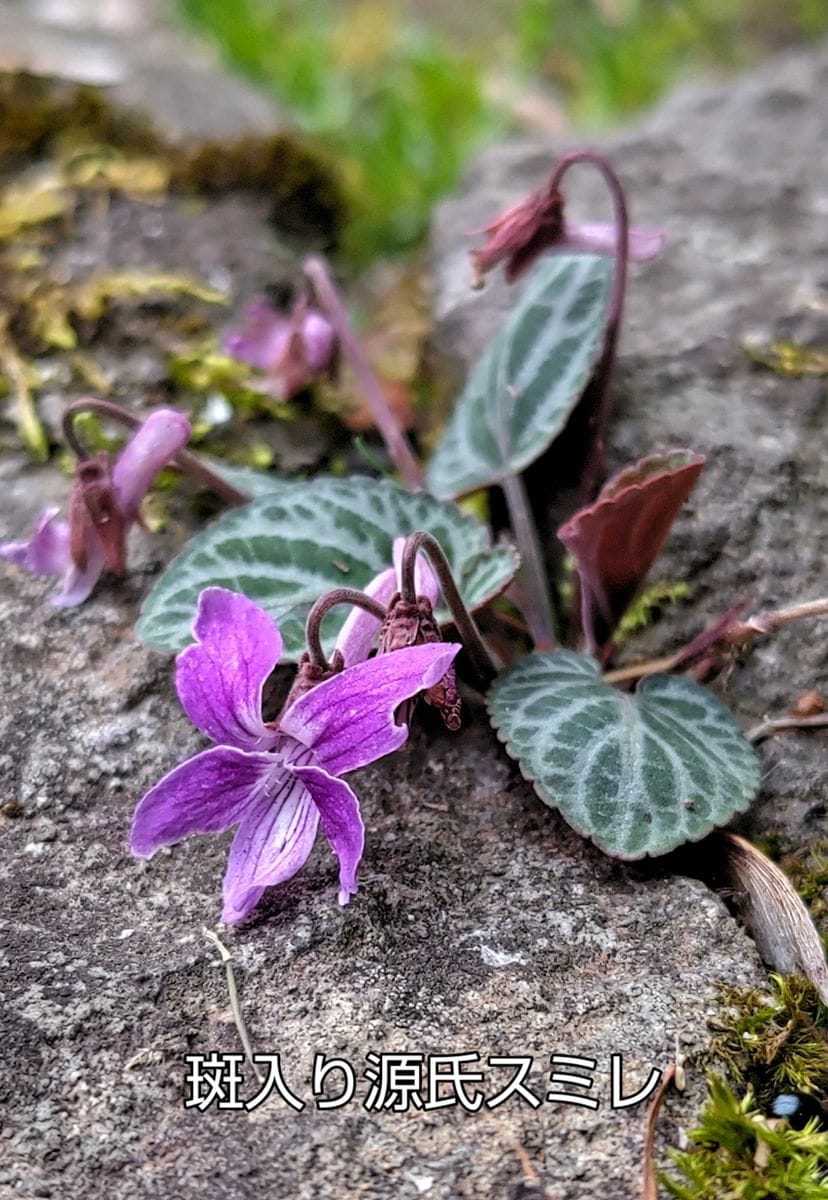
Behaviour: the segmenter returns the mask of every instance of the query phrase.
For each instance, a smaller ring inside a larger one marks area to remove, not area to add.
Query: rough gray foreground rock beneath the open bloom
[[[18,494],[22,527],[30,488]],[[755,956],[701,884],[629,871],[570,834],[479,714],[462,739],[420,728],[360,774],[370,838],[349,908],[320,844],[226,934],[253,1045],[282,1055],[308,1102],[316,1054],[360,1075],[370,1051],[532,1055],[541,1096],[550,1055],[593,1057],[599,1110],[184,1110],[184,1056],[239,1049],[202,935],[227,839],[149,864],[126,850],[136,799],[200,746],[168,660],[132,637],[158,562],[157,546],[136,548],[126,586],[70,613],[42,584],[4,578],[0,1195],[505,1195],[521,1176],[514,1139],[556,1196],[636,1195],[643,1112],[610,1108],[610,1055],[629,1092],[667,1064],[677,1032],[702,1050],[716,983],[755,980]],[[484,1091],[508,1078],[488,1068]]]

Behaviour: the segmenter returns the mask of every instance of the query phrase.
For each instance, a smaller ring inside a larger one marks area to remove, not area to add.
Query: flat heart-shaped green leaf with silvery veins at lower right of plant
[[[617,858],[665,854],[743,812],[758,787],[754,750],[709,691],[652,676],[632,695],[584,654],[530,654],[488,707],[535,791]]]

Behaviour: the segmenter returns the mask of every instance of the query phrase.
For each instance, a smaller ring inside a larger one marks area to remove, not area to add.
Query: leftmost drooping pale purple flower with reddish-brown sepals
[[[70,520],[48,509],[28,541],[7,541],[0,557],[34,575],[62,575],[52,602],[83,604],[101,571],[124,570],[125,535],[152,480],[190,437],[190,421],[172,408],[151,413],[124,446],[109,473],[103,455],[78,463]]]

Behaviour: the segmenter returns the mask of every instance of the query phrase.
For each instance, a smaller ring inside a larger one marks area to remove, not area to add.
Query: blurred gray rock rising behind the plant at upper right
[[[828,434],[822,378],[751,365],[744,343],[828,343],[828,162],[820,96],[828,49],[798,53],[719,88],[679,91],[601,143],[634,222],[662,228],[664,256],[632,269],[610,466],[661,446],[708,455],[653,578],[688,580],[689,605],[636,638],[630,656],[670,653],[739,599],[754,611],[828,593]],[[491,278],[469,289],[479,229],[536,186],[564,145],[485,155],[438,212],[433,238],[434,361],[461,380],[510,302]],[[590,168],[566,176],[570,215],[607,216]],[[570,181],[572,190],[569,191]],[[828,690],[824,620],[757,646],[724,683],[745,724]],[[760,802],[744,822],[788,848],[828,834],[824,733],[763,744]]]

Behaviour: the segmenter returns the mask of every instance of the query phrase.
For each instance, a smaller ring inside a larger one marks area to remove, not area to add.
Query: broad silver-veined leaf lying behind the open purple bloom
[[[467,607],[479,608],[517,570],[511,546],[454,504],[367,478],[283,481],[278,492],[232,509],[197,534],[144,601],[137,634],[162,650],[191,641],[202,588],[244,592],[278,622],[284,656],[305,648],[305,618],[334,588],[362,588],[391,565],[395,538],[425,529],[439,541]],[[325,620],[332,646],[347,608]],[[449,614],[438,611],[439,620]]]

